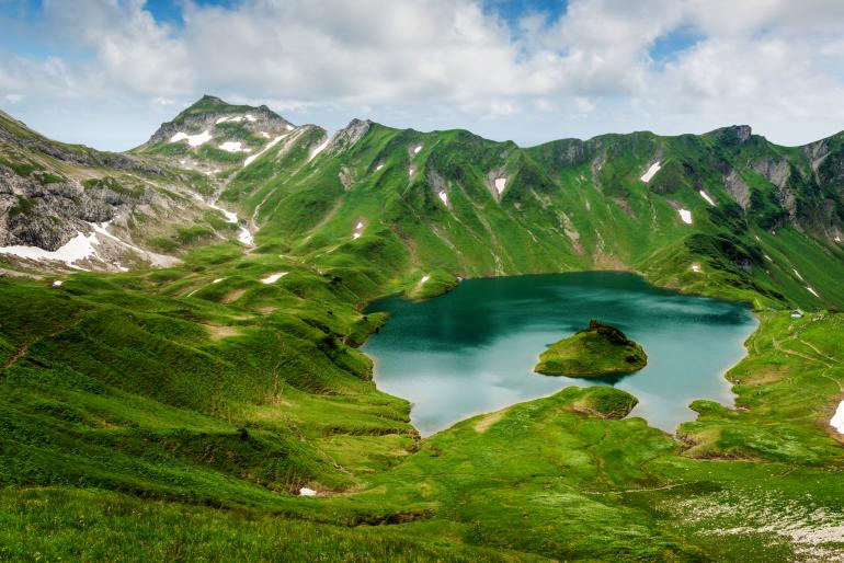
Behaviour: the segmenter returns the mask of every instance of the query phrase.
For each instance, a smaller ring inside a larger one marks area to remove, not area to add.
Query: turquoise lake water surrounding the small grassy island
[[[651,286],[626,273],[470,279],[422,302],[392,297],[369,311],[390,320],[369,337],[378,388],[412,403],[423,436],[475,414],[569,386],[612,384],[639,399],[631,416],[673,433],[695,399],[732,404],[723,372],[745,351],[756,320],[746,307]],[[648,366],[613,379],[533,372],[555,341],[598,319],[648,353]]]

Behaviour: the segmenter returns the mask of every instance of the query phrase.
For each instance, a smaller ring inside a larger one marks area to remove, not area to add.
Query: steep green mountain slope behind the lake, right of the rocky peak
[[[221,198],[253,215],[259,243],[328,264],[395,246],[411,285],[431,272],[609,267],[725,297],[840,307],[842,185],[813,172],[812,150],[746,127],[522,149],[355,120],[313,159],[267,152]]]

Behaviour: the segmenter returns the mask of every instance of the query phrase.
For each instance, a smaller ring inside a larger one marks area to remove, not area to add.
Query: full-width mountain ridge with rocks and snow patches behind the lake
[[[305,255],[395,244],[402,275],[613,267],[694,286],[711,272],[773,299],[837,299],[805,279],[801,256],[773,254],[782,230],[807,255],[839,260],[841,135],[789,148],[740,125],[521,148],[354,119],[329,137],[208,95],[118,156],[0,125],[0,154],[14,164],[0,169],[4,246],[56,250],[112,221],[127,244],[176,255],[239,230]]]

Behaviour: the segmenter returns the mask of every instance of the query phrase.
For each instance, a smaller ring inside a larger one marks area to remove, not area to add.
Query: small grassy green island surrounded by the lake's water
[[[638,371],[648,364],[640,345],[608,324],[589,328],[555,342],[539,356],[534,371],[546,376],[600,377]]]

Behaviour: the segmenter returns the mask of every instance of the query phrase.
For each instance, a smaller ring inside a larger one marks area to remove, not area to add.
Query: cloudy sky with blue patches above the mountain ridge
[[[203,94],[533,146],[844,129],[842,0],[0,0],[0,108],[125,150]]]

